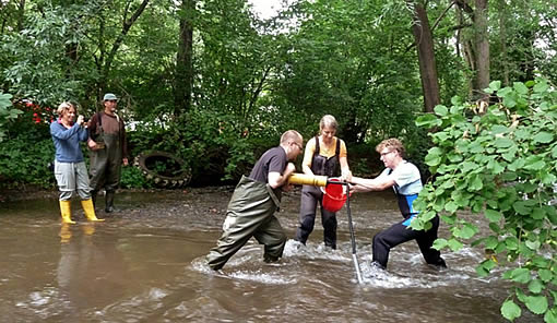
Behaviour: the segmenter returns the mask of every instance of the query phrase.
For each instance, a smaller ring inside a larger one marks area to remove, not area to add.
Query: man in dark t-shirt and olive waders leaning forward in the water
[[[282,256],[286,235],[274,212],[278,210],[282,189],[296,170],[289,160],[301,153],[303,142],[297,131],[286,131],[281,144],[266,151],[249,177],[240,179],[228,203],[223,235],[208,255],[212,270],[221,270],[251,237],[264,244],[265,262],[275,262]]]

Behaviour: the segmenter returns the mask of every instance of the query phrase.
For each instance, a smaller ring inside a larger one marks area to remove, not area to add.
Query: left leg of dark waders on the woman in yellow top
[[[295,240],[306,244],[309,235],[313,231],[316,223],[316,208],[321,192],[316,187],[304,186],[301,188],[299,226],[296,230]]]

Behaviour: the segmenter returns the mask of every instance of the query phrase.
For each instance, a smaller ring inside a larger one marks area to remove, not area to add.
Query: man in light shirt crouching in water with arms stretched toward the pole
[[[412,219],[418,214],[414,211],[413,202],[422,191],[422,178],[417,167],[403,159],[404,146],[398,139],[388,139],[379,143],[376,151],[381,155],[386,169],[375,179],[352,178],[353,192],[382,191],[393,188],[404,219],[374,237],[374,261],[371,265],[381,270],[387,268],[389,251],[406,241],[416,240],[426,263],[438,268],[447,267],[441,253],[432,249],[439,228],[439,216],[431,219],[428,230],[408,228]]]

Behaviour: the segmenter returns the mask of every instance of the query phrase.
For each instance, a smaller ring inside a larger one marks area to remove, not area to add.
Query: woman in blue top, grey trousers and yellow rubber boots
[[[60,190],[60,212],[64,224],[71,219],[71,198],[74,191],[81,198],[81,205],[88,220],[99,222],[91,200],[87,168],[80,147],[80,141],[88,137],[83,116],[74,122],[76,110],[71,103],[62,103],[57,113],[59,118],[50,123],[50,134],[56,148],[55,176]]]

